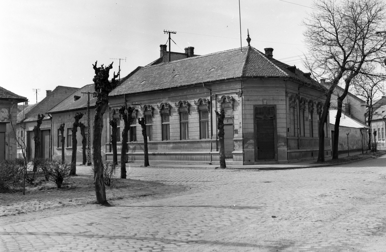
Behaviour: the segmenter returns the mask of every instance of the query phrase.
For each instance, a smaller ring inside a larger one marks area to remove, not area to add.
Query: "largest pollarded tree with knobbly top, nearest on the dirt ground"
[[[113,68],[113,63],[107,67],[97,68],[97,61],[93,65],[95,76],[93,81],[95,83],[95,92],[97,93],[97,101],[95,102],[95,116],[93,122],[93,161],[94,161],[94,184],[95,194],[97,196],[97,203],[102,205],[109,205],[106,200],[106,189],[103,181],[103,162],[101,154],[101,139],[103,129],[103,114],[108,106],[108,94],[118,86],[119,82],[115,80],[118,77],[115,72],[111,81],[108,80],[109,71]]]

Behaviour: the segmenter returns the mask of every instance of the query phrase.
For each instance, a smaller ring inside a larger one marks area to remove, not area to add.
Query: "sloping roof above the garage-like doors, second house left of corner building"
[[[54,90],[51,91],[46,97],[44,97],[43,100],[39,101],[34,107],[29,108],[28,111],[27,108],[24,110],[24,122],[29,121],[36,121],[37,120],[37,114],[45,114],[48,110],[53,108],[55,105],[57,105],[59,102],[63,101],[65,98],[67,98],[71,93],[73,93],[78,88],[72,88],[69,86],[57,86]],[[23,111],[19,112],[21,114],[20,120],[23,118]],[[46,118],[48,118],[46,116]],[[17,122],[20,122],[19,119]]]

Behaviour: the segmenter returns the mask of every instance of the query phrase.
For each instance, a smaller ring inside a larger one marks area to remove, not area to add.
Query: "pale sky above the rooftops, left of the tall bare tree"
[[[305,70],[301,24],[312,0],[240,0],[242,46]],[[304,6],[301,6],[304,5]],[[4,0],[0,8],[0,86],[36,103],[56,86],[93,83],[92,64],[113,63],[121,78],[159,58],[173,30],[171,51],[204,55],[240,47],[237,0],[55,1]],[[169,49],[168,49],[169,50]],[[115,58],[115,59],[111,59]],[[111,77],[110,77],[111,78]]]

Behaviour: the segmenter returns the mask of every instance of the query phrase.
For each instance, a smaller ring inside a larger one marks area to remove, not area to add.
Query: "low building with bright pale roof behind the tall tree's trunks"
[[[337,110],[330,110],[331,144],[334,141],[334,127]],[[363,151],[367,149],[369,126],[342,113],[339,123],[338,153]],[[333,147],[333,146],[332,146]],[[333,151],[333,149],[332,149]]]

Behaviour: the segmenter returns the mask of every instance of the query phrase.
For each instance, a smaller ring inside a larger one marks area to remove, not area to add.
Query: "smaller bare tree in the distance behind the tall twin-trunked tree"
[[[384,78],[380,76],[366,76],[359,74],[352,80],[354,86],[351,88],[351,92],[357,96],[362,97],[366,101],[366,117],[367,125],[371,129],[372,117],[376,114],[376,108],[374,107],[374,98],[384,95],[383,93],[383,81]],[[371,150],[371,130],[369,130],[369,142],[367,143],[367,149]]]

